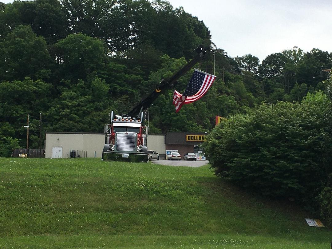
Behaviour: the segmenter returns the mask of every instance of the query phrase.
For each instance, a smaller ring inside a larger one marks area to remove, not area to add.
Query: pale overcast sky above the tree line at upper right
[[[1,2],[12,2],[0,0]],[[251,53],[261,61],[294,46],[332,52],[331,0],[169,0],[209,28],[229,56]]]

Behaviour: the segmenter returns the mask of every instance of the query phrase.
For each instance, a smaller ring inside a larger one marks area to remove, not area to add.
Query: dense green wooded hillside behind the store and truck
[[[0,2],[0,156],[29,147],[47,131],[103,132],[109,113],[126,113],[195,55],[196,68],[218,78],[200,101],[175,115],[173,89],[149,108],[150,130],[205,132],[215,116],[246,113],[261,103],[300,102],[325,90],[332,54],[294,47],[267,56],[231,58],[208,27],[183,8],[156,0],[35,0]],[[183,91],[193,69],[176,89]]]

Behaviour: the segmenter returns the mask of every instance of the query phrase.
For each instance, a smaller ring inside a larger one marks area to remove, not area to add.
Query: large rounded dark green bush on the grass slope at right
[[[299,103],[263,104],[216,126],[204,143],[218,176],[274,197],[309,203],[329,172],[321,92]],[[324,159],[324,160],[323,160]]]

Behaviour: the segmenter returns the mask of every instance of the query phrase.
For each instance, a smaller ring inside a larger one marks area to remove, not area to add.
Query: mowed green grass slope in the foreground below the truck
[[[331,248],[304,218],[208,166],[0,158],[0,248]]]

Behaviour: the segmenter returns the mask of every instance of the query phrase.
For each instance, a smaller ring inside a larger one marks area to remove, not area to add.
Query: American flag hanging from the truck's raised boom
[[[215,77],[214,75],[195,69],[184,93],[181,94],[174,90],[173,105],[175,105],[175,112],[179,112],[184,104],[190,104],[202,98],[212,85]]]

